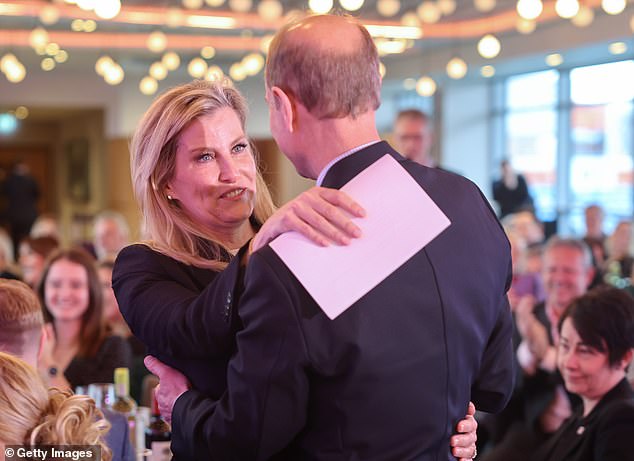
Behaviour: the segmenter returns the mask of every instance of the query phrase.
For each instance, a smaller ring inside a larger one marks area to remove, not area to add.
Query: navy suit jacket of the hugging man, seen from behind
[[[253,254],[227,392],[214,401],[191,390],[174,406],[179,459],[453,460],[449,438],[469,399],[504,407],[513,362],[503,230],[473,183],[384,142],[337,162],[324,185],[341,187],[386,153],[451,226],[334,320],[270,247]]]

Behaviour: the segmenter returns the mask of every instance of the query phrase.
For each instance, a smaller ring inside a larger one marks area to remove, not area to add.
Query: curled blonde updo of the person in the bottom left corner
[[[5,445],[93,445],[111,459],[104,435],[110,423],[95,402],[47,389],[37,371],[0,352],[0,440]]]

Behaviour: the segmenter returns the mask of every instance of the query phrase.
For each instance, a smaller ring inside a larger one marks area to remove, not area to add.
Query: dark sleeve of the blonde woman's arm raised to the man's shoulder
[[[144,245],[124,248],[117,257],[112,286],[132,332],[151,351],[201,358],[226,353],[227,322],[240,277],[239,257],[204,288],[170,258]],[[190,277],[191,279],[191,277]]]

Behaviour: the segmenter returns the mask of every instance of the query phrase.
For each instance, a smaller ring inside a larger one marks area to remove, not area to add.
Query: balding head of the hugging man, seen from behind
[[[283,27],[271,42],[266,63],[271,132],[304,176],[315,174],[311,148],[367,141],[370,127],[376,130],[380,90],[377,49],[353,18],[309,16]]]

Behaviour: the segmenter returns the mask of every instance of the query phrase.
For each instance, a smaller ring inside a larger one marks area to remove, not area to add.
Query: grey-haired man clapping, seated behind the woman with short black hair
[[[496,429],[499,443],[484,461],[524,461],[571,414],[575,401],[566,394],[556,373],[557,325],[566,307],[587,289],[594,269],[590,250],[581,240],[551,237],[544,249],[543,285],[546,298],[535,304],[522,298],[516,308],[518,364],[522,374],[513,411]]]

